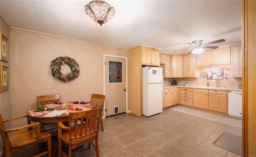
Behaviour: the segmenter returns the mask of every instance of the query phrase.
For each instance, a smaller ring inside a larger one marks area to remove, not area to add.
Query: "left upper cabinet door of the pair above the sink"
[[[197,66],[212,65],[212,50],[204,51],[197,55]]]

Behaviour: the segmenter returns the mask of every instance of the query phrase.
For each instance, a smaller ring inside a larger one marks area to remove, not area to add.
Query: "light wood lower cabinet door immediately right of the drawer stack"
[[[209,109],[208,93],[193,92],[193,106]]]

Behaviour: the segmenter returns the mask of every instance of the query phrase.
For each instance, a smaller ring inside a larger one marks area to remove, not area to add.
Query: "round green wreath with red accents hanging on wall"
[[[71,69],[71,73],[68,73],[67,75],[62,74],[60,72],[62,65],[68,65],[68,67]],[[72,81],[79,76],[79,65],[74,59],[70,57],[56,57],[56,59],[52,60],[50,66],[52,70],[52,76],[62,82]]]

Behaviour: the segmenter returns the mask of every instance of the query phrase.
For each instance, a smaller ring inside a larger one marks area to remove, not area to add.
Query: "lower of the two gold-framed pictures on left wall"
[[[3,92],[9,89],[9,67],[0,65],[0,77],[0,92]]]

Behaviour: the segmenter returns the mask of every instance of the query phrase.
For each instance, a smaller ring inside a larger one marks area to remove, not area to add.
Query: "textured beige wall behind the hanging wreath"
[[[128,49],[14,28],[10,34],[12,117],[24,115],[36,107],[38,95],[60,93],[61,101],[90,101],[92,93],[103,94],[103,54],[128,57],[129,67]],[[78,78],[63,83],[52,77],[50,62],[60,56],[76,60],[80,67]]]

